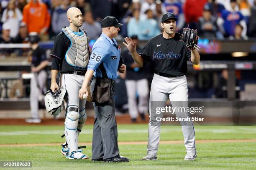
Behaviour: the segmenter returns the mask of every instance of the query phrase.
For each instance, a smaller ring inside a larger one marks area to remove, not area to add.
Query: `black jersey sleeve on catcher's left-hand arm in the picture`
[[[64,37],[63,33],[59,33],[59,35],[56,36],[54,41],[54,47],[51,50],[51,57],[58,58],[61,60],[63,58],[63,52],[64,52]]]

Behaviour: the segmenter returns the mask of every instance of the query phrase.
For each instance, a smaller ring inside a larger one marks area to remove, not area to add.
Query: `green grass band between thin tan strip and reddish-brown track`
[[[85,125],[80,142],[92,141],[92,125]],[[195,126],[196,140],[256,139],[256,126]],[[61,143],[64,126],[0,126],[0,144]],[[118,125],[119,141],[146,141],[148,125]],[[181,126],[161,126],[161,140],[183,140]]]

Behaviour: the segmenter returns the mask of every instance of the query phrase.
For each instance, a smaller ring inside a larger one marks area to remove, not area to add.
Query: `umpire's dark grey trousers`
[[[96,80],[92,80],[91,93]],[[95,117],[92,135],[92,159],[112,158],[119,154],[118,131],[115,120],[114,85],[111,85],[110,96],[112,102],[98,104],[93,102]]]

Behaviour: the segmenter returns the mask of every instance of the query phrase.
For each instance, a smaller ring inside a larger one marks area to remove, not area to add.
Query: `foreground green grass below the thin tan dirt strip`
[[[60,153],[60,147],[3,147],[2,161],[32,161],[33,169],[136,169],[136,170],[253,170],[256,166],[255,143],[209,143],[197,145],[198,158],[184,161],[183,145],[160,145],[157,161],[141,161],[146,154],[146,145],[120,145],[122,155],[129,163],[92,163],[91,160],[68,160]],[[84,153],[90,154],[91,146]]]

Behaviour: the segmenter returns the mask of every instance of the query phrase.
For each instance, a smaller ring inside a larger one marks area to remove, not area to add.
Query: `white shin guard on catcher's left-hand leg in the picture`
[[[67,107],[67,114],[65,119],[65,138],[69,146],[69,154],[72,152],[77,152],[78,150],[78,119],[79,108],[77,106]]]

